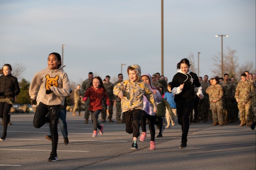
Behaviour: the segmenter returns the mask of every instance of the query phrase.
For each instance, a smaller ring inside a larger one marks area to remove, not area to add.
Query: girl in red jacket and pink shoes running
[[[92,79],[90,88],[88,88],[84,93],[83,101],[85,102],[88,97],[90,98],[89,110],[93,123],[92,137],[96,137],[98,135],[97,128],[100,131],[100,135],[103,134],[103,125],[100,125],[98,123],[98,115],[102,111],[103,97],[106,98],[106,103],[108,106],[110,106],[108,94],[106,93],[106,89],[103,85],[102,79],[99,76],[96,76]]]

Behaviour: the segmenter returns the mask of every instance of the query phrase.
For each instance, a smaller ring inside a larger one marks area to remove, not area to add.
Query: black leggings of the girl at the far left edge
[[[7,135],[7,126],[8,126],[8,113],[12,107],[12,104],[8,104],[6,102],[0,102],[0,117],[4,120],[4,129],[3,135]]]

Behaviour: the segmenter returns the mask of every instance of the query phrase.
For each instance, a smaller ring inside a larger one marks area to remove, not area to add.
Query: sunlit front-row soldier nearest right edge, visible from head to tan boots
[[[243,105],[250,91],[254,89],[252,82],[246,80],[246,74],[241,74],[241,80],[236,87],[236,102],[238,102],[238,109],[240,111],[240,125],[239,126],[250,126],[250,115],[249,110],[251,106],[251,101]]]

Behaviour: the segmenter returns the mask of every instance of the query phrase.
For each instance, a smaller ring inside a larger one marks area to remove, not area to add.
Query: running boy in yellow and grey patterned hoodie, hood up
[[[137,64],[128,66],[129,79],[114,86],[113,93],[121,99],[122,111],[125,114],[126,132],[132,133],[132,150],[138,150],[137,139],[140,136],[140,119],[143,109],[143,95],[146,96],[150,105],[154,106],[153,113],[156,113],[156,102],[154,94],[141,80],[140,66]]]

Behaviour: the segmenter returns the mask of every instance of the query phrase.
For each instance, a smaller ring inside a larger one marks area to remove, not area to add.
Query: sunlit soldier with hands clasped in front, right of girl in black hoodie
[[[212,110],[212,125],[223,125],[222,116],[222,95],[223,89],[218,83],[218,78],[213,78],[211,86],[206,89],[206,93],[209,94],[210,109]]]

